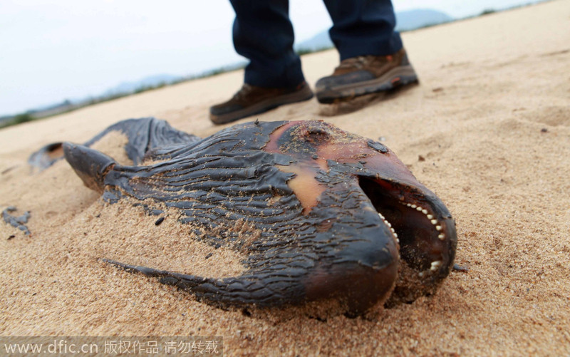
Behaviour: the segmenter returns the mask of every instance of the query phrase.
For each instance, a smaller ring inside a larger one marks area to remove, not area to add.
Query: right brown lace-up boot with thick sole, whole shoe
[[[347,58],[332,76],[319,79],[315,86],[319,102],[330,104],[418,82],[418,76],[402,48],[389,56]]]

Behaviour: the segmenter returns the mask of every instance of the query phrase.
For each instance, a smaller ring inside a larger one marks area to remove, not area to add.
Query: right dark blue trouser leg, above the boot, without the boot
[[[390,0],[324,0],[333,27],[328,31],[341,61],[356,56],[386,56],[402,48],[394,31],[395,14]]]

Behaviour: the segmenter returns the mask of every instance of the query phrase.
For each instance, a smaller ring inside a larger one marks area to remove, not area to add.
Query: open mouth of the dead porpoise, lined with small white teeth
[[[398,243],[400,275],[407,274],[399,281],[422,285],[404,289],[404,293],[397,283],[395,299],[413,301],[418,294],[406,296],[410,291],[429,294],[432,285],[447,276],[455,257],[457,238],[449,212],[435,195],[423,192],[421,187],[365,176],[358,177],[358,184]]]

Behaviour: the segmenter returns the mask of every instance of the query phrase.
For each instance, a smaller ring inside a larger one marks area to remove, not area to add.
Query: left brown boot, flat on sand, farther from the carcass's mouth
[[[209,119],[215,124],[225,124],[264,113],[279,105],[301,102],[313,98],[313,91],[306,82],[293,88],[261,88],[244,83],[232,99],[209,108]]]

